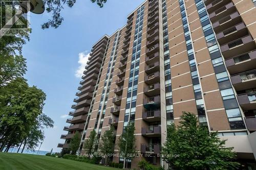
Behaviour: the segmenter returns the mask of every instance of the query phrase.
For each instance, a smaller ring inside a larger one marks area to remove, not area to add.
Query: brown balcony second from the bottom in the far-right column
[[[256,91],[238,95],[238,102],[243,110],[256,109]]]

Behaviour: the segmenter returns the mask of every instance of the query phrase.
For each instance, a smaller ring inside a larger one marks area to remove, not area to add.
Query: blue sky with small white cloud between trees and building
[[[108,0],[103,8],[90,0],[76,1],[65,7],[64,21],[57,29],[41,29],[50,14],[30,14],[32,33],[23,47],[28,71],[25,78],[47,94],[43,112],[54,120],[54,128],[45,130],[40,150],[60,152],[58,143],[92,45],[104,34],[112,35],[125,25],[129,15],[144,0]]]

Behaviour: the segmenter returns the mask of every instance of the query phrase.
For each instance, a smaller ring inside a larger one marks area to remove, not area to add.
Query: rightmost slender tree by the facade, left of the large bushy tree
[[[118,139],[119,152],[124,156],[123,167],[125,167],[127,159],[133,159],[131,157],[137,151],[135,150],[135,136],[134,136],[134,123],[128,123],[124,128],[123,133]],[[126,164],[127,167],[127,164]]]

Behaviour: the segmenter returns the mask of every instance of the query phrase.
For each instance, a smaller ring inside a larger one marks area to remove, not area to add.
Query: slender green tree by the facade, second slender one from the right
[[[100,152],[104,155],[113,154],[115,149],[115,137],[114,127],[111,126],[109,130],[106,130],[101,137],[101,142],[99,143]],[[108,164],[108,157],[106,157],[105,163]]]

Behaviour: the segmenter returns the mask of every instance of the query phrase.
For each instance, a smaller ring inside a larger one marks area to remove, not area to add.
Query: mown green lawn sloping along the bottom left
[[[0,152],[0,169],[1,170],[113,170],[117,168],[95,165],[85,162],[78,162],[50,156],[15,154]]]

